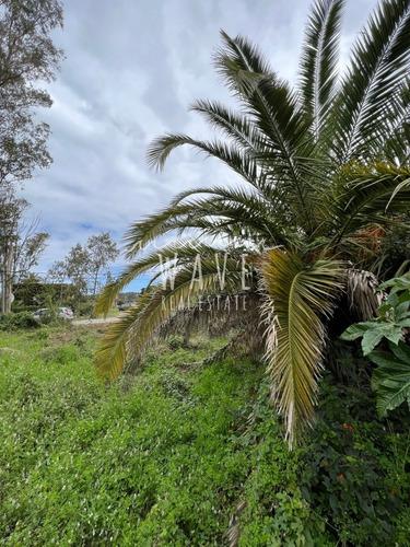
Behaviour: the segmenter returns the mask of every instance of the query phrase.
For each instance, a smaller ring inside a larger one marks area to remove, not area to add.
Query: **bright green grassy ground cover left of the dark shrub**
[[[93,333],[44,333],[0,335],[5,545],[216,542],[246,476],[229,431],[255,370],[189,370],[180,348],[107,388],[92,369]]]

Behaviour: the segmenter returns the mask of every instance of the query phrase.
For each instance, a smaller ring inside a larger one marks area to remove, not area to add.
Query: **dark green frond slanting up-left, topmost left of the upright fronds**
[[[262,165],[280,171],[301,210],[308,207],[304,191],[304,165],[311,155],[311,118],[298,107],[297,96],[284,81],[280,81],[251,45],[242,37],[230,38],[223,34],[225,48],[219,50],[216,65],[227,85],[238,89],[246,113],[254,119],[258,131],[265,136],[259,150]],[[244,72],[255,74],[253,85],[243,89]],[[239,84],[237,83],[239,79]],[[297,161],[295,152],[305,161]]]

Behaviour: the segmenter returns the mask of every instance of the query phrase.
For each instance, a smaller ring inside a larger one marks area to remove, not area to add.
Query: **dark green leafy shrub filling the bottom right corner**
[[[319,419],[302,455],[304,498],[335,539],[396,545],[395,519],[409,503],[409,439],[374,420],[374,396],[333,384],[330,376],[321,382],[321,394]]]

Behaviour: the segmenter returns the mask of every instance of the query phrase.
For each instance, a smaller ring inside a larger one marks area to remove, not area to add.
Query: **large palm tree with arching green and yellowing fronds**
[[[197,101],[191,109],[222,138],[167,133],[151,144],[148,161],[162,170],[174,149],[188,144],[219,159],[242,183],[185,191],[129,228],[132,263],[105,288],[98,313],[137,276],[154,274],[150,289],[105,335],[99,375],[116,379],[127,358],[175,315],[175,302],[180,307],[188,296],[220,294],[224,260],[223,294],[244,293],[244,266],[246,291],[259,294],[258,336],[290,443],[312,420],[326,318],[352,267],[371,270],[379,263],[375,233],[402,228],[410,202],[410,1],[379,2],[339,75],[343,4],[314,2],[295,89],[247,39],[222,32],[215,67],[239,109]],[[159,254],[147,246],[175,234],[161,249],[166,271],[176,267],[165,287],[153,270]],[[230,254],[223,258],[224,245]]]

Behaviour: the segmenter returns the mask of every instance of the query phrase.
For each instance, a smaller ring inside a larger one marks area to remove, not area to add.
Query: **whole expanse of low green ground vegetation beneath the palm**
[[[260,363],[203,365],[222,340],[173,336],[107,387],[101,335],[0,333],[2,544],[408,545],[409,416],[376,419],[349,346],[290,453]]]

